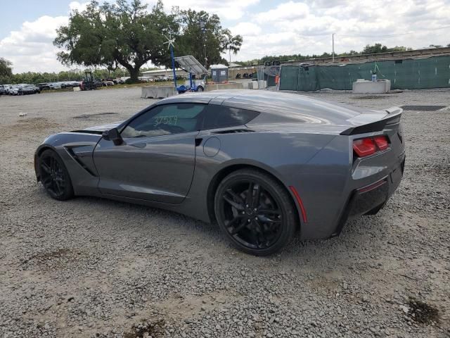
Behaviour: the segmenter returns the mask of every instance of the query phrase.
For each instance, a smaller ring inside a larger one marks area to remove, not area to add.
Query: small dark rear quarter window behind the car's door
[[[211,104],[205,114],[205,123],[203,129],[215,129],[224,127],[234,127],[245,125],[257,117],[257,111],[248,111],[246,109],[218,106]]]

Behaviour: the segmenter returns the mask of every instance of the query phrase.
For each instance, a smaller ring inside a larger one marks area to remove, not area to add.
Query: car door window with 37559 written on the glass
[[[122,131],[124,138],[151,137],[200,130],[204,104],[156,106],[132,120]]]

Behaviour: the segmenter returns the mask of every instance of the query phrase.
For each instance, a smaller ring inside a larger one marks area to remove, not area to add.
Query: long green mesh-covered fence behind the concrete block
[[[392,89],[425,89],[450,87],[450,56],[376,61],[349,65],[283,65],[281,90],[311,91],[323,88],[351,90],[357,79],[390,80]]]

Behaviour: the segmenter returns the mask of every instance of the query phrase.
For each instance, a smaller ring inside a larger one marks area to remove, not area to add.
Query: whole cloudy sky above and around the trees
[[[104,0],[102,0],[104,1]],[[149,8],[156,0],[143,0]],[[337,54],[361,51],[366,44],[425,48],[450,44],[450,0],[163,0],[172,6],[205,10],[221,18],[222,27],[243,36],[231,61],[265,55]],[[68,23],[86,1],[1,1],[0,57],[13,73],[67,70],[56,59],[56,29]],[[176,46],[175,46],[176,51]],[[225,56],[225,55],[224,55]],[[228,59],[228,56],[226,56]],[[75,68],[75,66],[73,67]]]

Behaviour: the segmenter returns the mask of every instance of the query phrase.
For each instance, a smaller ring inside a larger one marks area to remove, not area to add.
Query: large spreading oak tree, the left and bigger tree
[[[85,11],[73,11],[69,24],[57,30],[53,44],[64,65],[103,66],[110,71],[122,65],[137,80],[142,65],[167,63],[164,35],[178,31],[173,14],[167,15],[162,1],[148,12],[141,0],[117,0],[101,6],[92,0]]]

